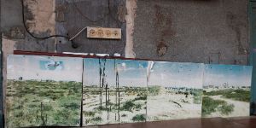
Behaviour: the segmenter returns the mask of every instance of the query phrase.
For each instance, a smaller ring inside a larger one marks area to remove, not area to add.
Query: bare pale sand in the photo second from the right
[[[182,107],[177,105],[177,102]],[[193,97],[185,95],[164,94],[148,96],[147,121],[167,119],[188,119],[201,117],[201,104],[193,103]]]

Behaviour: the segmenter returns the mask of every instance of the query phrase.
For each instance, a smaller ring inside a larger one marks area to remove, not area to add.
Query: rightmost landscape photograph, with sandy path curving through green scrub
[[[253,67],[206,65],[202,117],[243,117],[250,115]]]

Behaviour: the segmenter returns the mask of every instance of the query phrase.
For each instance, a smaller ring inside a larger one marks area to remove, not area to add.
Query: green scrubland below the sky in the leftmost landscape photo
[[[7,127],[79,125],[81,83],[8,80],[7,86]]]

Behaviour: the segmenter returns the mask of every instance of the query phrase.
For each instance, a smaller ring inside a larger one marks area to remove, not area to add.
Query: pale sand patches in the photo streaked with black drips
[[[128,96],[128,95],[124,95],[124,94],[120,94],[120,108],[122,107],[124,102],[127,101],[131,101],[133,99],[135,99],[137,96],[136,95],[132,95],[132,96]],[[110,96],[110,102],[115,103],[116,97],[115,96]],[[134,116],[136,116],[137,114],[146,114],[146,101],[144,100],[139,100],[134,102],[135,104],[142,104],[142,109],[139,111],[133,110],[133,112],[130,111],[120,111],[119,112],[119,118],[120,118],[120,122],[118,122],[118,111],[117,110],[112,110],[111,112],[107,112],[107,111],[100,111],[98,113],[96,113],[96,115],[94,117],[101,117],[102,121],[99,121],[97,124],[92,124],[89,123],[87,125],[105,125],[105,124],[118,124],[118,123],[133,123],[134,121],[132,121],[132,118]],[[83,111],[93,111],[96,112],[94,110],[94,108],[97,108],[100,106],[100,96],[99,95],[85,95],[84,94],[84,102],[83,102]],[[105,95],[103,95],[102,97],[102,107],[105,107]],[[125,116],[122,116],[125,115]],[[83,115],[83,125],[85,124],[85,120],[88,119],[89,117],[84,117]]]

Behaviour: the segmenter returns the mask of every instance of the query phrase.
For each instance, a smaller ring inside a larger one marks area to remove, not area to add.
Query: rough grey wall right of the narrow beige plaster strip
[[[137,58],[247,64],[247,0],[138,0],[136,15]]]

